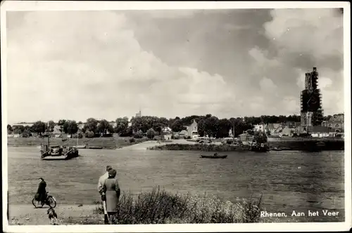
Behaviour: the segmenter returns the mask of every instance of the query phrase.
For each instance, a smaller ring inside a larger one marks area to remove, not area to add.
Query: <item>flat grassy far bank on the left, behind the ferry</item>
[[[103,147],[103,149],[116,149],[121,147],[127,147],[140,142],[145,142],[148,138],[130,138],[130,137],[118,137],[114,135],[110,138],[68,138],[63,141],[61,138],[50,138],[51,145],[62,145],[62,146],[75,146],[75,145],[86,145],[86,147]],[[8,147],[30,147],[40,146],[41,143],[46,144],[48,138],[7,138]]]

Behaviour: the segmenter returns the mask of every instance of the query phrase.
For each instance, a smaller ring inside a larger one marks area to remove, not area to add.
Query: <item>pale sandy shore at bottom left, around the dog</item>
[[[9,225],[49,225],[46,214],[48,206],[34,208],[32,205],[10,205],[8,208]],[[94,213],[96,205],[58,205],[55,211],[60,225],[103,224],[103,215]]]

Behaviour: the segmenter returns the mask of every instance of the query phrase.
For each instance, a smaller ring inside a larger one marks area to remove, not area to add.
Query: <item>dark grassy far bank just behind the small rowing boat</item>
[[[166,144],[150,147],[151,150],[196,150],[204,152],[231,152],[231,151],[246,151],[249,146],[234,146],[228,144]]]

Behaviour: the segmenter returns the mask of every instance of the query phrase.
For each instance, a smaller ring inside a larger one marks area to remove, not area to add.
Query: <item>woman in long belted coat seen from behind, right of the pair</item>
[[[118,199],[120,198],[120,187],[118,179],[115,178],[116,170],[108,171],[108,178],[104,181],[103,192],[106,194],[106,212],[108,217],[118,212]]]

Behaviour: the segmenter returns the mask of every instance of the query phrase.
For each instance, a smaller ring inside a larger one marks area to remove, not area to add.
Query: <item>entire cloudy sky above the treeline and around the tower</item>
[[[344,112],[336,9],[7,13],[8,121]]]

